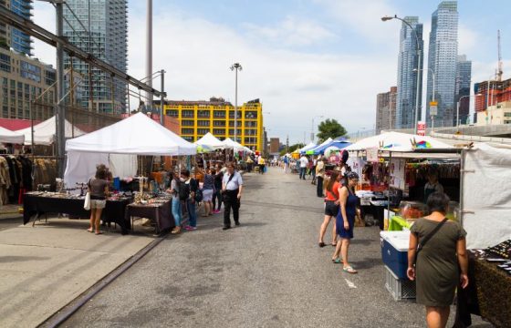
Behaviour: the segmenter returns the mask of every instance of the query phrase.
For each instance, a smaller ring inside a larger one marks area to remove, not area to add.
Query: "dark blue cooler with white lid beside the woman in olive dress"
[[[381,231],[381,259],[399,279],[406,279],[410,231]]]

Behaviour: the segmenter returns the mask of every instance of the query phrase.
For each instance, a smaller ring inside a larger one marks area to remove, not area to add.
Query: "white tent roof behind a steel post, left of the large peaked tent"
[[[66,138],[79,137],[85,134],[84,131],[79,128],[74,128],[73,125],[66,120],[64,125]],[[25,135],[25,144],[32,145],[32,128],[23,128],[16,131]],[[34,144],[49,146],[55,141],[55,135],[57,133],[57,117],[48,118],[34,126]]]

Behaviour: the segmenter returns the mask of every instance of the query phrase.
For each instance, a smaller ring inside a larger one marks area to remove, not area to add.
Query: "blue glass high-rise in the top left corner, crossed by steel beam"
[[[0,0],[0,5],[5,6],[17,15],[21,15],[26,19],[32,16],[31,0]],[[13,48],[15,51],[32,56],[32,40],[30,36],[21,32],[13,26],[0,23],[0,46],[4,48]]]

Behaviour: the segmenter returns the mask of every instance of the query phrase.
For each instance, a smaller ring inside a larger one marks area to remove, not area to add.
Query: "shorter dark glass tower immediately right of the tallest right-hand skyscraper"
[[[472,61],[466,60],[465,55],[458,56],[456,63],[456,95],[454,101],[459,102],[460,124],[470,122],[470,79],[472,78]],[[466,97],[465,97],[466,96]],[[461,99],[461,100],[460,100]],[[457,105],[456,105],[457,106]],[[457,116],[457,114],[456,114]],[[456,119],[453,121],[456,125]]]

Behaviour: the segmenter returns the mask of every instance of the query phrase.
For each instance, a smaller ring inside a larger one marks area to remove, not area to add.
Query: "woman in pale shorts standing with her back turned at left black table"
[[[102,234],[99,231],[99,223],[101,221],[101,212],[107,206],[107,195],[109,193],[110,181],[107,180],[108,169],[104,165],[99,165],[96,169],[94,179],[89,179],[90,192],[90,226],[87,231],[96,234]]]

